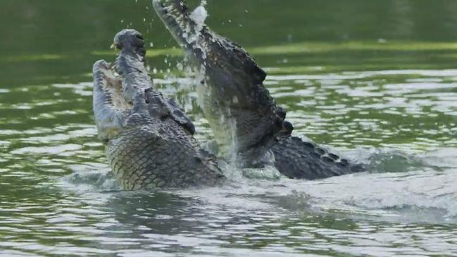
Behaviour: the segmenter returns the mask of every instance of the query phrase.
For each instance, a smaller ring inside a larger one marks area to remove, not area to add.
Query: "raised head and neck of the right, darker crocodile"
[[[265,72],[241,46],[196,18],[199,10],[191,13],[185,1],[154,0],[153,5],[201,71],[199,100],[223,154],[234,152],[242,163],[256,165],[277,137],[293,129],[263,86]]]

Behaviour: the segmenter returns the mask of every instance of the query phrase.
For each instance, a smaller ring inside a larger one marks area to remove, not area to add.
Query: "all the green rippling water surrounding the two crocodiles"
[[[258,6],[208,1],[207,21],[268,71],[294,133],[370,173],[276,181],[227,168],[223,187],[122,192],[96,138],[92,63],[113,59],[121,28],[144,32],[157,87],[206,144],[181,52],[149,1],[5,0],[0,256],[456,256],[456,3]]]

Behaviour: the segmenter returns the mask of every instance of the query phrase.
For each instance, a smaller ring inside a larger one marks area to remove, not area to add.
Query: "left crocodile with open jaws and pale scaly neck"
[[[114,63],[94,63],[94,118],[106,156],[126,190],[214,186],[225,180],[216,157],[194,139],[175,101],[154,89],[135,30],[115,35]]]

